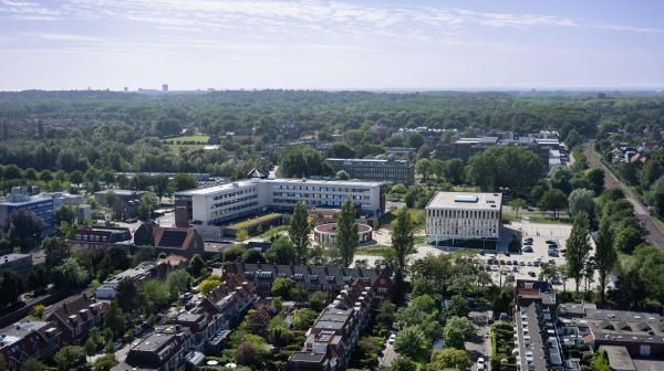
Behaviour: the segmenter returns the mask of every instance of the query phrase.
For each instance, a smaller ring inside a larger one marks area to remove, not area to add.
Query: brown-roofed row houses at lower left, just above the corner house
[[[93,327],[102,328],[107,303],[81,294],[71,300],[50,307],[44,317],[55,324],[61,335],[61,343],[81,346]]]

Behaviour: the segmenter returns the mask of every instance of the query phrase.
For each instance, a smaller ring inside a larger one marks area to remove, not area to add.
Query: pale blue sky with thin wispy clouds
[[[664,1],[0,0],[0,91],[664,87]]]

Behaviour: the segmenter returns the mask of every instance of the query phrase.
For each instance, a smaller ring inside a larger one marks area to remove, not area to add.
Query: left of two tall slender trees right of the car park
[[[574,216],[572,231],[567,241],[567,272],[569,277],[574,279],[575,292],[579,293],[579,285],[583,278],[583,268],[588,261],[588,255],[592,246],[590,245],[590,234],[588,233],[588,214],[580,211]]]

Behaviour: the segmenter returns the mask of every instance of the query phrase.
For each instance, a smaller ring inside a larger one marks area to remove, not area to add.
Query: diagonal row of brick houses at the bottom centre
[[[344,370],[371,318],[373,296],[373,289],[361,279],[342,289],[307,331],[302,350],[289,358],[287,370]]]

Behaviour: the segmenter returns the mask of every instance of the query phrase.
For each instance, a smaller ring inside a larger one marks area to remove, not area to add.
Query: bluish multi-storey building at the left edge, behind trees
[[[48,234],[54,229],[55,209],[53,198],[41,194],[33,194],[32,187],[13,187],[11,193],[0,201],[0,229],[7,231],[10,224],[11,214],[19,210],[28,210],[41,218],[44,226],[43,234]]]

